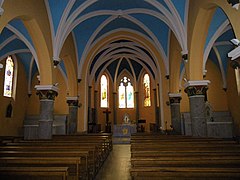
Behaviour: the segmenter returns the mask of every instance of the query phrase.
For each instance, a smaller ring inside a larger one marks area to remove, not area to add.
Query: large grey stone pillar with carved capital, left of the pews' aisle
[[[58,88],[53,85],[36,85],[40,99],[39,139],[52,139],[53,107]]]

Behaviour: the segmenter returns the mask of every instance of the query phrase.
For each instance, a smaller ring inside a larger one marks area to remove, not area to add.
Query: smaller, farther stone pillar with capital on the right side
[[[172,128],[174,134],[182,134],[181,132],[181,113],[180,113],[180,101],[182,99],[181,94],[169,93],[169,102],[171,108]]]

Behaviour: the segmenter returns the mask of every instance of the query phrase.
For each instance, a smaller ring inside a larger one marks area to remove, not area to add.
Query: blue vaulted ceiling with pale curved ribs
[[[187,53],[188,0],[45,0],[52,34],[53,58],[58,59],[69,35],[75,42],[77,78],[90,49],[108,34],[126,31],[151,42],[161,54],[169,75],[170,35],[174,33],[182,53]],[[205,43],[204,65],[210,58],[226,77],[227,53],[234,32],[224,12],[217,8]],[[38,71],[38,58],[32,39],[20,19],[8,23],[0,35],[0,60],[15,53],[24,64],[28,79]],[[89,73],[97,79],[107,69],[112,79],[126,70],[138,79],[144,68],[153,78],[158,76],[156,57],[144,42],[126,38],[101,47],[92,60]],[[67,77],[64,61],[59,68]],[[181,71],[184,71],[183,64]],[[225,81],[223,81],[225,82]],[[223,85],[223,86],[226,86]]]

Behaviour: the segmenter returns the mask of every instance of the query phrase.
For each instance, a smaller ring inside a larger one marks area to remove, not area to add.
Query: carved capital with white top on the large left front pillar
[[[49,99],[54,100],[58,95],[58,88],[54,85],[36,85],[37,95],[39,99]]]

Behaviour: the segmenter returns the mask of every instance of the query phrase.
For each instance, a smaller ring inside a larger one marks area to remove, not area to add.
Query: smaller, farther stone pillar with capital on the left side
[[[77,133],[78,97],[67,97],[69,113],[67,118],[67,134]]]

